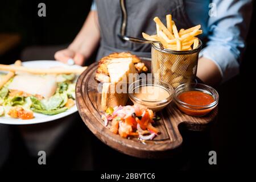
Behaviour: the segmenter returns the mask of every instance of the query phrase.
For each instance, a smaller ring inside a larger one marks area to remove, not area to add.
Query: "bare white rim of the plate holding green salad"
[[[27,68],[51,68],[51,67],[65,67],[65,68],[80,68],[79,65],[67,65],[64,63],[60,63],[59,61],[48,61],[48,60],[40,60],[40,61],[27,61],[22,62],[22,65]],[[44,115],[39,113],[34,113],[33,119],[15,119],[9,117],[0,117],[0,123],[9,124],[9,125],[30,125],[36,123],[43,123],[48,121],[53,121],[56,119],[60,119],[66,117],[67,115],[73,114],[77,111],[76,105],[68,109],[67,111],[56,114],[56,115]]]

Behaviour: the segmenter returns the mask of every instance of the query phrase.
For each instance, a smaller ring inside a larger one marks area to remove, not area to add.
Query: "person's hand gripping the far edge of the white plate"
[[[54,58],[57,61],[61,61],[62,63],[67,63],[69,59],[73,59],[77,65],[82,65],[85,61],[84,55],[79,52],[75,52],[70,48],[57,51],[54,55]]]

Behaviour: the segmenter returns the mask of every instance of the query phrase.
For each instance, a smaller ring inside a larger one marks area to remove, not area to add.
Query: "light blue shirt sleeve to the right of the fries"
[[[252,13],[251,0],[213,0],[216,14],[208,20],[207,47],[201,52],[216,63],[222,81],[239,73],[239,63]]]

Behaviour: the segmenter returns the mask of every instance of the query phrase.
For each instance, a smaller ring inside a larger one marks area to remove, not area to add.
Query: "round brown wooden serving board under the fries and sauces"
[[[143,62],[150,68],[150,61],[144,60]],[[101,93],[97,92],[98,82],[94,80],[96,69],[97,63],[90,65],[77,80],[76,104],[82,120],[90,131],[102,142],[124,154],[138,158],[165,157],[170,154],[172,149],[180,146],[183,141],[178,130],[180,123],[185,123],[189,129],[197,130],[212,121],[217,115],[216,107],[205,117],[191,117],[181,113],[174,102],[171,102],[157,114],[161,119],[156,122],[155,126],[161,134],[154,140],[147,140],[143,143],[137,138],[122,138],[110,132],[101,119],[101,114],[103,114],[101,111]]]

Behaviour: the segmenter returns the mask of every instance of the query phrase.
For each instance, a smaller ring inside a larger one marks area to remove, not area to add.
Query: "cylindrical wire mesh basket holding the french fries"
[[[174,88],[195,80],[199,52],[202,48],[201,40],[196,49],[189,51],[160,49],[155,44],[151,46],[151,73],[155,78],[168,82]]]

